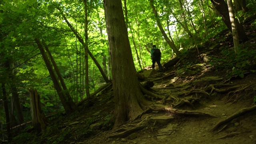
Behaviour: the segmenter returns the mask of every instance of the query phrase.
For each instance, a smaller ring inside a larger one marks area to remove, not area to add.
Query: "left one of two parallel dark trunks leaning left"
[[[50,60],[47,57],[46,52],[44,51],[44,48],[43,48],[43,45],[41,44],[41,41],[38,38],[36,38],[35,40],[36,40],[38,48],[39,48],[39,50],[40,50],[40,52],[42,54],[42,57],[43,57],[44,62],[46,64],[46,67],[47,67],[47,69],[49,71],[49,74],[50,74],[50,76],[52,78],[52,82],[54,84],[54,87],[55,87],[55,89],[56,89],[56,91],[58,93],[58,96],[60,97],[60,101],[62,103],[62,106],[63,106],[66,114],[69,116],[72,112],[76,111],[77,109],[74,109],[73,104],[70,104],[69,100],[66,98],[66,95],[63,92],[63,89],[60,86],[60,83],[58,81],[58,78],[57,78],[57,76],[54,73],[54,70],[52,68],[52,64],[50,63]]]

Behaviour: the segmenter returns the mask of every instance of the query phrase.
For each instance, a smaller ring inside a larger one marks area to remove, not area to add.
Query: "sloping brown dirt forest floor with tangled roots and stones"
[[[255,32],[250,34],[250,41],[246,43],[252,49],[256,49]],[[256,144],[256,110],[253,102],[256,96],[256,74],[244,72],[244,78],[238,75],[228,77],[226,69],[216,69],[205,60],[209,57],[223,58],[221,47],[229,46],[232,49],[231,34],[225,31],[220,35],[224,37],[219,40],[213,38],[199,48],[204,58],[198,56],[196,48],[191,48],[184,59],[164,73],[150,68],[144,71],[150,74],[140,73],[147,75],[144,81],[154,82],[151,92],[164,98],[145,95],[146,99],[182,112],[201,112],[201,116],[148,110],[140,118],[113,130],[114,96],[110,85],[90,102],[84,102],[80,112],[70,117],[58,114],[48,118],[50,125],[43,133],[36,135],[34,129],[26,129],[12,143]],[[182,73],[177,73],[179,66],[187,65],[187,71],[191,72],[194,69],[190,68],[198,64],[201,64],[199,71],[193,74],[181,76]],[[255,70],[256,66],[250,68]],[[197,83],[204,78],[210,79]],[[254,108],[250,112],[243,109],[250,107]],[[223,123],[216,126],[221,121]],[[214,126],[216,129],[213,130]]]

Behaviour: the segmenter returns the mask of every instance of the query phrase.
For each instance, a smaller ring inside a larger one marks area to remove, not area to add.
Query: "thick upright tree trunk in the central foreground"
[[[144,100],[136,77],[121,0],[104,0],[115,100],[114,128],[140,114]]]

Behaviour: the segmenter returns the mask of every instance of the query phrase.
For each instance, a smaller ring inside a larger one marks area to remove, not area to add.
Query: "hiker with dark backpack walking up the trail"
[[[156,45],[153,45],[153,47],[152,47],[152,49],[150,51],[150,54],[151,54],[151,60],[152,60],[152,68],[155,68],[155,63],[157,63],[160,72],[164,72],[163,68],[162,68],[162,65],[160,63],[161,52],[160,52],[160,50],[158,48],[156,48]]]

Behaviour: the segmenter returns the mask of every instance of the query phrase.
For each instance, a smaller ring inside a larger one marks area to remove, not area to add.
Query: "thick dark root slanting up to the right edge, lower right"
[[[219,126],[226,124],[227,122],[233,120],[234,118],[237,118],[238,116],[242,116],[242,115],[246,114],[247,112],[251,112],[253,110],[256,110],[256,106],[252,106],[250,108],[243,108],[243,109],[239,110],[238,112],[232,114],[231,116],[227,117],[225,120],[222,120],[222,121],[218,122],[217,124],[215,124],[215,126],[211,129],[211,131],[216,130]]]

